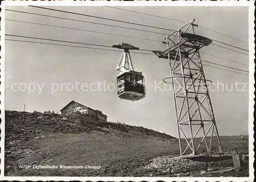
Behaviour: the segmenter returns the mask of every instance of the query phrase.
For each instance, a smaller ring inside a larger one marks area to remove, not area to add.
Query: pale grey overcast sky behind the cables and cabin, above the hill
[[[135,22],[138,24],[163,27],[166,29],[177,29],[183,25],[182,22],[152,17],[143,14],[137,14],[109,7],[50,7],[59,10],[66,10],[76,13],[83,13],[95,16],[101,16],[123,21]],[[120,7],[127,10],[133,10],[183,21],[196,19],[196,24],[209,29],[221,32],[223,34],[235,37],[248,42],[248,8],[247,7]],[[103,24],[131,27],[147,31],[170,33],[170,31],[147,28],[135,25],[124,24],[110,20],[79,16],[63,12],[56,12],[34,7],[6,7],[6,9],[61,16],[66,18],[80,19],[86,21],[100,22]],[[119,35],[135,36],[147,39],[164,40],[164,35],[120,29],[102,25],[88,24],[85,22],[57,19],[52,17],[37,16],[31,14],[6,11],[6,19],[36,22],[39,24],[48,24],[54,26],[69,27],[75,29],[84,29]],[[196,28],[196,33],[212,39],[220,40],[232,45],[236,45],[248,50],[248,43],[232,39],[230,37],[218,34],[216,32]],[[151,40],[141,40],[135,38],[120,37],[115,35],[106,35],[100,33],[69,30],[56,27],[25,24],[22,22],[6,21],[6,34],[23,35],[30,37],[40,37],[48,39],[58,39],[67,41],[78,41],[84,43],[93,43],[101,45],[118,44],[123,42],[135,45],[140,49],[164,50],[165,44]],[[73,43],[53,42],[47,40],[36,40],[28,38],[18,38],[6,36],[9,39],[29,40],[48,43],[61,43],[69,45],[78,45],[90,47],[90,45],[81,45]],[[213,42],[220,44],[218,42]],[[222,46],[223,44],[220,44]],[[99,48],[99,47],[97,47]],[[235,49],[231,48],[230,49]],[[241,50],[238,50],[241,51]],[[135,51],[134,51],[135,52]],[[140,51],[142,52],[142,51]],[[232,61],[247,65],[237,64],[227,60],[219,59],[209,55],[202,54],[202,59],[224,64],[231,67],[248,71],[249,56],[233,52],[227,49],[216,47],[210,44],[201,52],[212,54],[218,57],[226,58]],[[248,54],[245,51],[241,51]],[[145,52],[150,53],[150,52]],[[59,45],[37,44],[28,42],[16,42],[6,40],[6,58],[5,58],[5,107],[7,110],[23,110],[26,103],[26,111],[58,111],[71,100],[75,100],[84,105],[99,109],[109,116],[109,121],[124,122],[125,124],[144,126],[161,132],[165,132],[177,137],[177,124],[175,121],[174,101],[172,90],[158,89],[164,88],[162,79],[169,76],[168,62],[165,59],[159,59],[154,55],[131,53],[134,69],[143,72],[146,79],[146,97],[140,101],[127,101],[117,97],[116,90],[116,69],[117,62],[121,52],[103,51],[94,49],[63,47]],[[209,64],[209,63],[208,63]],[[209,64],[210,65],[210,64]],[[213,65],[216,66],[216,65]],[[220,67],[220,66],[218,66]],[[225,67],[221,67],[225,69]],[[231,70],[231,69],[228,69]],[[210,97],[214,108],[216,122],[220,135],[240,135],[248,134],[248,79],[246,75],[232,73],[214,67],[204,66],[205,76],[217,86],[212,86]],[[235,71],[235,70],[233,70]],[[240,72],[240,71],[237,71]],[[245,72],[240,72],[245,73]],[[69,83],[75,86],[78,84],[78,90],[75,88],[69,91],[71,87],[66,85],[60,89],[61,83]],[[111,89],[115,85],[115,90],[103,91],[103,85],[97,89],[82,91],[81,84],[87,83],[111,84]],[[237,90],[235,84],[239,83]],[[15,84],[16,83],[16,84]],[[42,87],[41,93],[38,87],[34,92],[29,93],[28,88],[25,91],[18,90],[19,84],[29,83],[38,84]],[[224,91],[222,90],[224,84]],[[243,85],[246,84],[244,87]],[[14,86],[14,90],[12,89]],[[52,86],[58,85],[59,89],[52,93]],[[80,86],[79,86],[80,85]],[[228,90],[226,90],[226,85]],[[168,88],[170,85],[165,85]]]

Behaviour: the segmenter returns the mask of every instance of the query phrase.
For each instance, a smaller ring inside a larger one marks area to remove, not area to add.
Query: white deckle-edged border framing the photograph
[[[5,145],[5,7],[6,6],[246,6],[249,9],[249,110],[248,110],[248,127],[249,127],[249,177],[71,177],[71,176],[4,176],[4,145]],[[253,1],[3,1],[1,4],[1,64],[0,64],[0,118],[1,118],[1,174],[0,180],[31,180],[31,181],[253,181],[254,179],[254,151],[253,151],[253,111],[254,111],[254,4]]]

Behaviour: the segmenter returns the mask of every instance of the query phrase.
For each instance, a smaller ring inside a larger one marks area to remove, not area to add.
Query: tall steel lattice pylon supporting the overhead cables
[[[165,78],[164,82],[172,84],[173,88],[180,155],[184,155],[188,148],[193,155],[196,155],[203,142],[207,152],[211,152],[214,134],[217,137],[219,152],[222,152],[207,87],[212,82],[205,79],[199,53],[199,50],[209,45],[211,40],[195,34],[194,27],[197,25],[194,22],[195,19],[167,35],[165,51],[154,51],[159,58],[169,60],[170,77]],[[193,33],[187,33],[188,30]],[[170,81],[168,82],[167,79]],[[199,132],[202,133],[203,138],[195,143]],[[181,134],[186,141],[186,148],[182,148]]]

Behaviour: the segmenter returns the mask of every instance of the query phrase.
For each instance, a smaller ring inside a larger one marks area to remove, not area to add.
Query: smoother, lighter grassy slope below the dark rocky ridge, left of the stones
[[[24,169],[19,175],[129,175],[136,167],[144,166],[155,156],[169,154],[170,143],[152,139],[119,138],[112,134],[52,134],[28,146],[39,150],[20,164],[47,161],[48,165],[99,165],[101,170],[34,170]],[[53,152],[52,152],[53,151]],[[42,152],[42,153],[40,153]],[[47,153],[52,152],[50,155]],[[46,157],[44,158],[44,154]],[[38,163],[39,164],[39,163]],[[37,164],[37,165],[38,165]],[[44,163],[46,164],[46,163]],[[135,172],[135,171],[133,171]],[[136,174],[136,172],[135,172]]]

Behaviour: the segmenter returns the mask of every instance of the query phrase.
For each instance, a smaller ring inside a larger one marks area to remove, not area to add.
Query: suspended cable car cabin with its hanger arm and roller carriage
[[[123,49],[116,70],[117,75],[117,95],[120,99],[137,101],[145,97],[145,79],[142,72],[136,72],[129,50],[139,50],[131,44],[122,43],[113,45],[113,48]]]

